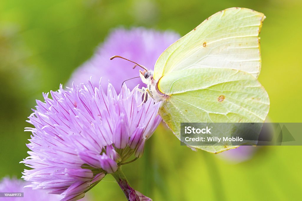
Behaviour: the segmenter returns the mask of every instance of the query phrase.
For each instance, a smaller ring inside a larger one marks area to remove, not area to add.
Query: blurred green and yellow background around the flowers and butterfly
[[[57,90],[119,25],[186,34],[229,7],[266,15],[261,31],[262,71],[271,122],[302,122],[302,2],[218,1],[0,1],[0,178],[21,177],[35,99]],[[143,158],[124,166],[131,185],[153,200],[301,199],[301,146],[270,146],[233,163],[193,152],[165,127],[147,142]],[[113,177],[89,193],[95,200],[124,200]]]

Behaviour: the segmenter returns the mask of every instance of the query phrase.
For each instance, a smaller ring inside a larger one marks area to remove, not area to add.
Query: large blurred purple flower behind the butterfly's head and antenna
[[[107,85],[110,80],[114,88],[119,89],[123,81],[139,76],[138,67],[132,69],[134,64],[124,59],[111,61],[111,56],[123,56],[153,69],[159,55],[179,38],[179,34],[172,31],[161,32],[142,27],[115,29],[98,47],[95,55],[73,73],[69,85],[72,82],[76,85],[85,82],[93,75],[96,80],[102,77],[102,85]],[[137,84],[145,85],[140,78],[127,81],[129,88],[134,88]],[[98,86],[98,83],[94,82],[93,85]]]

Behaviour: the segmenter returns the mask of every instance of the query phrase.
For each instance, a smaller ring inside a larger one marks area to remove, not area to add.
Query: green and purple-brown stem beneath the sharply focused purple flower
[[[128,201],[130,201],[130,198],[131,198],[131,201],[134,201],[134,200],[139,201],[140,200],[140,198],[136,194],[135,190],[130,187],[129,182],[128,182],[126,176],[124,175],[121,166],[119,166],[117,168],[116,172],[112,173],[112,176],[117,181],[118,185],[122,189],[122,191],[125,194]]]

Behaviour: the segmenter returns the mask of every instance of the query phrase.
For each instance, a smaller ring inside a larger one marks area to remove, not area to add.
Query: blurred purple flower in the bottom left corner
[[[0,197],[2,201],[59,201],[63,198],[61,195],[47,194],[45,190],[33,190],[32,188],[24,188],[24,186],[29,185],[30,182],[20,180],[20,179],[10,179],[8,177],[3,178],[0,181],[0,192],[2,193],[23,193],[24,197]],[[84,200],[82,200],[84,201]]]

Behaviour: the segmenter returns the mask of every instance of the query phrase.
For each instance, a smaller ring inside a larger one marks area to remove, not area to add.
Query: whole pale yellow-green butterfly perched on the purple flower
[[[257,81],[264,14],[228,8],[212,15],[158,58],[139,65],[142,90],[162,101],[159,114],[180,139],[182,122],[264,122],[269,98]],[[112,58],[111,58],[112,59]],[[236,146],[193,146],[219,153]]]

